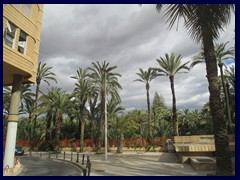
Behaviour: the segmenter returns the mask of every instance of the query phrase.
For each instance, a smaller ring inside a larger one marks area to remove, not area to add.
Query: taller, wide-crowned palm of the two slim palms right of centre
[[[176,97],[174,89],[174,77],[176,74],[186,73],[189,71],[189,67],[187,66],[189,62],[181,64],[181,59],[182,59],[181,55],[175,56],[173,53],[171,53],[171,55],[169,56],[168,54],[165,54],[165,58],[160,57],[160,59],[157,59],[160,68],[154,68],[161,75],[168,76],[170,80],[170,86],[172,90],[172,113],[173,113],[172,121],[174,130],[173,134],[175,136],[178,136],[179,133],[178,133]]]

